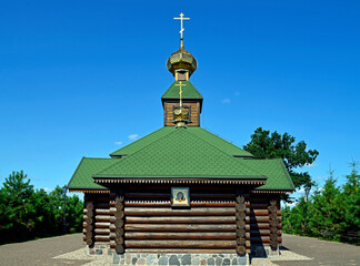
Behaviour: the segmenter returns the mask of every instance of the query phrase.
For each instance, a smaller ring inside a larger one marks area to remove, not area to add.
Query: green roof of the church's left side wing
[[[109,167],[116,162],[116,158],[82,157],[68,184],[68,188],[107,190],[106,187],[96,184],[92,180],[92,175]]]

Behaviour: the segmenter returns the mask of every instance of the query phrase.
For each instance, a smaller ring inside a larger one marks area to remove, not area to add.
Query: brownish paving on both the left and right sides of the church
[[[311,260],[271,260],[279,266],[359,265],[360,247],[283,234],[283,247]],[[54,259],[61,254],[83,248],[81,234],[67,235],[0,246],[0,265],[62,266],[83,265],[87,259]],[[82,250],[80,250],[82,254]],[[266,260],[263,260],[266,263]],[[263,264],[266,265],[266,264]],[[269,264],[270,265],[270,264]]]

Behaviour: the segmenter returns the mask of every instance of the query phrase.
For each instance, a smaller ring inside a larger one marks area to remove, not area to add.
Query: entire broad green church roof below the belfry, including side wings
[[[256,160],[201,127],[164,126],[113,152],[111,158],[83,157],[70,190],[107,190],[98,178],[266,178],[257,190],[293,190],[281,158]]]

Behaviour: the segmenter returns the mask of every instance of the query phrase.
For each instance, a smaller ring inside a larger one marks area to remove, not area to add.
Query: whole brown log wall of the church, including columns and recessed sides
[[[171,187],[128,186],[86,194],[83,239],[113,253],[250,253],[281,243],[279,195],[231,186],[190,187],[190,208],[172,208]]]

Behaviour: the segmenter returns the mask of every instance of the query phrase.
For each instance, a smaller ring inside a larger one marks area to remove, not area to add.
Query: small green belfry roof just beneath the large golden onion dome
[[[180,81],[174,81],[171,86],[162,94],[161,99],[180,99],[179,92]],[[191,84],[190,81],[181,81],[181,91],[182,91],[182,99],[202,99],[201,94],[198,90]]]

